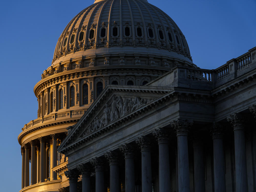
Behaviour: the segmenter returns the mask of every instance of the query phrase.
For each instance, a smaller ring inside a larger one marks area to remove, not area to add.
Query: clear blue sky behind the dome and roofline
[[[255,0],[148,2],[176,22],[187,39],[193,62],[200,68],[215,69],[256,46]],[[1,2],[1,191],[21,189],[17,136],[24,124],[37,118],[34,85],[51,65],[65,26],[92,3],[93,0]]]

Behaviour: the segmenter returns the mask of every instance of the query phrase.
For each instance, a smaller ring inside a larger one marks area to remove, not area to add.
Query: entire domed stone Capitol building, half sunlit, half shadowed
[[[201,69],[147,0],[96,0],[34,87],[20,192],[256,191],[255,54]]]

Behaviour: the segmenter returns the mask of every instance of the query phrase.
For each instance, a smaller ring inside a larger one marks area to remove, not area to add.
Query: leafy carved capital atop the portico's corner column
[[[172,128],[175,130],[177,136],[188,135],[188,131],[193,125],[193,120],[177,119],[171,123]]]

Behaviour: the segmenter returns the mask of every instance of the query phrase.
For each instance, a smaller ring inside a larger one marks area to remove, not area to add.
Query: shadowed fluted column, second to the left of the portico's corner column
[[[142,192],[152,191],[152,172],[151,172],[151,147],[150,139],[142,136],[136,140],[141,149],[141,180]]]

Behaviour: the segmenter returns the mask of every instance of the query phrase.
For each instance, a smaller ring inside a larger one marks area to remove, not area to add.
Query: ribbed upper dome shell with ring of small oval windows
[[[161,53],[192,61],[185,36],[175,22],[146,0],[96,0],[66,26],[53,63],[71,53],[86,55],[89,49],[95,49],[95,54],[126,50]]]

